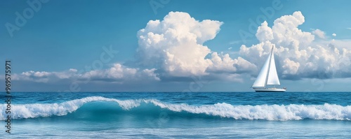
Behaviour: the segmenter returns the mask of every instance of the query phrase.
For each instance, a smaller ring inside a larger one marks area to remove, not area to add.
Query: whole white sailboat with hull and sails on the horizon
[[[275,67],[273,48],[263,65],[256,81],[253,82],[252,88],[255,92],[285,92],[286,87],[277,88],[280,85],[277,68]]]

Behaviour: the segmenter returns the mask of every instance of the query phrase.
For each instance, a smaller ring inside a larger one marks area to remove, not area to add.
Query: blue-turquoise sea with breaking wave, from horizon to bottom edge
[[[1,137],[351,138],[350,92],[12,94]]]

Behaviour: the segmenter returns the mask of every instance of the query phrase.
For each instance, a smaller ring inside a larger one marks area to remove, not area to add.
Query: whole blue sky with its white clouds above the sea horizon
[[[288,92],[347,92],[350,4],[5,1],[0,59],[15,92],[253,92],[274,46]]]

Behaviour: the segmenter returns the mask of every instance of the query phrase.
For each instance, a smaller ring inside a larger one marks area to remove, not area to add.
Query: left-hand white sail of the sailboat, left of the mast
[[[272,54],[270,54],[267,58],[267,60],[265,61],[265,64],[263,65],[260,73],[258,74],[256,81],[253,82],[252,87],[265,87],[265,81],[267,78],[267,73],[268,73],[268,68],[270,68],[270,57]],[[275,66],[274,66],[275,67]],[[276,71],[277,73],[277,71]]]

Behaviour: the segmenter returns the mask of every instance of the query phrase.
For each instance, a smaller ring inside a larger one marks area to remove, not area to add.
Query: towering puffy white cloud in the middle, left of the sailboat
[[[138,31],[138,54],[143,64],[159,65],[174,77],[255,70],[255,65],[241,57],[219,56],[204,45],[216,37],[222,24],[216,20],[198,21],[188,13],[170,12],[164,20],[150,20]],[[210,54],[211,58],[206,58]]]

